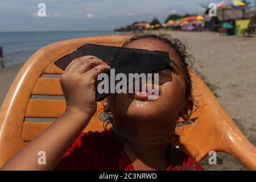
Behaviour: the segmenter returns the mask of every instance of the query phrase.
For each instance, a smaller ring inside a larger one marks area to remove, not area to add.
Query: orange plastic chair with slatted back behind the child
[[[63,71],[53,62],[86,43],[120,47],[129,36],[98,36],[65,40],[46,46],[30,57],[20,69],[0,111],[0,167],[35,138],[49,120],[58,118],[65,109],[65,101],[53,99],[63,96],[59,78]],[[256,170],[256,148],[246,139],[232,119],[221,107],[199,76],[191,70],[193,98],[199,109],[193,112],[190,125],[176,128],[183,151],[200,162],[209,151],[226,152],[236,158],[246,169]],[[36,97],[44,98],[36,98]],[[85,131],[102,131],[98,118],[102,106],[98,103]],[[33,122],[36,119],[46,120]],[[185,121],[179,120],[180,123]]]

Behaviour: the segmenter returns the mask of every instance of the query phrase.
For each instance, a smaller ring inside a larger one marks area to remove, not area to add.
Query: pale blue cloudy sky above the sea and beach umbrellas
[[[202,14],[201,5],[211,2],[221,0],[0,0],[0,31],[113,30],[173,13]],[[46,17],[38,16],[39,3]]]

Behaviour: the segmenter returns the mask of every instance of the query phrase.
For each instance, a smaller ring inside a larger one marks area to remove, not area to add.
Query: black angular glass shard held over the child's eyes
[[[72,60],[88,55],[96,56],[103,60],[111,69],[115,69],[115,75],[124,73],[127,78],[129,73],[154,73],[164,69],[170,69],[168,52],[96,44],[84,44],[75,51],[55,61],[55,65],[65,70]],[[109,75],[110,73],[107,74]],[[110,90],[108,93],[102,94],[96,92],[96,101],[103,100],[109,93]]]

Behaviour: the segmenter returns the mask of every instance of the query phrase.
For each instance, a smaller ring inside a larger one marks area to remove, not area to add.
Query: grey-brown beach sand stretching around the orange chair
[[[220,37],[213,32],[154,31],[187,42],[198,72],[242,133],[256,145],[256,38]],[[0,70],[0,103],[21,64]],[[217,165],[201,162],[207,170],[243,170],[231,156],[217,153]]]

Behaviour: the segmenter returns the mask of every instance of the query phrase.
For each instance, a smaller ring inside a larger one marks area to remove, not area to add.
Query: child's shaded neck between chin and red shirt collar
[[[152,168],[162,166],[161,169],[163,169],[163,166],[167,166],[170,156],[167,151],[171,144],[172,132],[161,133],[158,131],[152,133],[143,130],[143,133],[138,133],[126,127],[119,127],[115,122],[112,129],[131,162],[138,162],[139,160]]]

